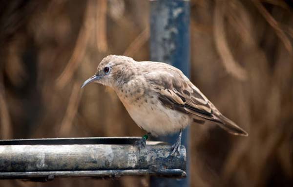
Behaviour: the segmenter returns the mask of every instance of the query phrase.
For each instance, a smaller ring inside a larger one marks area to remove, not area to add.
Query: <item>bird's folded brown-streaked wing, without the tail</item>
[[[153,85],[164,106],[218,122],[213,114],[213,105],[181,71],[170,69],[153,74],[156,76],[148,76],[147,82]]]

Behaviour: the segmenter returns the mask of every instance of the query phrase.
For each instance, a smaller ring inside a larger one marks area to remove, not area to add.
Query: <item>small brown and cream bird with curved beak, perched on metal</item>
[[[135,144],[146,146],[148,136],[178,133],[170,155],[180,154],[182,130],[192,123],[211,121],[233,135],[248,136],[192,84],[184,73],[163,62],[135,61],[133,58],[108,55],[96,73],[85,80],[112,88],[130,117],[147,134]]]

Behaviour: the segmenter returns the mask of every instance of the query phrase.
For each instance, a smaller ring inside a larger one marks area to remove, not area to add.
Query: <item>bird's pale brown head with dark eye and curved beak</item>
[[[105,57],[100,62],[96,73],[84,81],[82,88],[91,82],[114,88],[133,61],[132,58],[126,56],[109,55]]]

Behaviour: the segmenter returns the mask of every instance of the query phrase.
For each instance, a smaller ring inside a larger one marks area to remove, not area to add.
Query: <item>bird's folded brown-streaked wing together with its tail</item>
[[[180,70],[166,65],[155,68],[145,78],[164,106],[193,115],[197,123],[204,123],[202,119],[206,119],[216,122],[231,134],[248,136],[247,132],[223,116]]]

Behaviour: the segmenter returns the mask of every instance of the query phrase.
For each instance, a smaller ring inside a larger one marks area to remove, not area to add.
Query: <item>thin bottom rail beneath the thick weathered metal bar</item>
[[[31,179],[49,181],[56,177],[95,177],[118,178],[122,176],[156,175],[164,177],[186,177],[186,172],[181,169],[162,169],[158,171],[150,169],[128,170],[87,170],[87,171],[28,171],[28,172],[0,172],[0,179]]]

